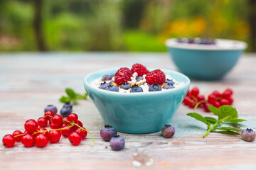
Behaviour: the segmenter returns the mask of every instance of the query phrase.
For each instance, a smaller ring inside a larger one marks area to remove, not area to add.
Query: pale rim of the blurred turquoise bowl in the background
[[[221,47],[220,45],[201,45],[201,44],[188,44],[176,42],[178,38],[170,38],[165,41],[166,47],[186,49],[186,50],[213,50],[213,51],[223,51],[223,50],[245,50],[247,43],[239,40],[228,40],[228,39],[218,39],[216,38],[216,43],[233,43],[230,47]]]

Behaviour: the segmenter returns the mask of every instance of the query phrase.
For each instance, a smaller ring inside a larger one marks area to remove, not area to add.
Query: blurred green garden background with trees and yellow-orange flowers
[[[0,52],[166,51],[167,38],[244,40],[256,0],[0,0]]]

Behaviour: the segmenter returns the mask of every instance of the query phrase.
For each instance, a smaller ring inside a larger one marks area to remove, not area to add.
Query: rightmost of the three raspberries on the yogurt
[[[154,71],[146,74],[146,83],[149,85],[159,84],[161,86],[162,84],[164,84],[165,81],[165,74],[160,69],[155,69]]]

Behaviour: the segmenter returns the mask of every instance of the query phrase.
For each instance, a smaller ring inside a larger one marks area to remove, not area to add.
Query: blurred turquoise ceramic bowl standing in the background
[[[246,43],[217,39],[216,45],[178,43],[166,40],[166,46],[178,69],[192,79],[221,79],[238,62]]]

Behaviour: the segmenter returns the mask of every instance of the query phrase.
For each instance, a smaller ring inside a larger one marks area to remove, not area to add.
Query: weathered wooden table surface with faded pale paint
[[[43,108],[52,103],[60,108],[58,98],[66,87],[84,93],[83,78],[98,69],[131,67],[176,69],[166,53],[17,53],[0,55],[0,138],[23,130],[28,119],[43,116]],[[240,118],[247,119],[243,128],[256,130],[256,55],[244,55],[222,81],[191,80],[202,94],[213,90],[234,90]],[[0,145],[0,169],[256,169],[256,142],[245,142],[239,136],[210,133],[186,113],[181,106],[171,120],[176,134],[171,139],[161,132],[131,135],[119,132],[126,141],[122,151],[114,152],[102,141],[104,123],[92,101],[80,101],[73,109],[87,130],[95,137],[95,147],[88,136],[74,147],[61,138],[45,148],[13,148]],[[199,111],[199,113],[203,113]],[[209,115],[209,113],[203,113]]]

